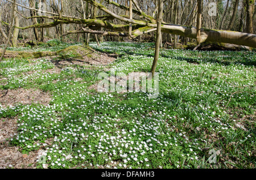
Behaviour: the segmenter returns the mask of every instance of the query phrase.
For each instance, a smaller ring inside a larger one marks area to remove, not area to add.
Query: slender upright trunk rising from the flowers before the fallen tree
[[[158,62],[158,57],[159,57],[162,20],[163,20],[163,0],[159,0],[159,2],[158,2],[158,20],[157,20],[157,29],[156,29],[156,42],[155,42],[155,56],[154,56],[154,61],[153,61],[152,67],[151,67],[152,77],[155,74],[155,68],[156,68],[156,64]]]

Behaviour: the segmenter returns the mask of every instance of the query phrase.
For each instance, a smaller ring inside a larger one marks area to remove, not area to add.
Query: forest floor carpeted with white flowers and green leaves
[[[255,168],[256,52],[161,49],[148,98],[98,92],[97,77],[150,72],[154,44],[90,46],[97,63],[0,62],[0,168]]]

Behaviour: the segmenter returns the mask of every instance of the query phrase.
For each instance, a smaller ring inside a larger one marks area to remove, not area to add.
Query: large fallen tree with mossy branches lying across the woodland
[[[12,2],[10,0],[7,0],[7,1]],[[46,14],[49,14],[51,16],[46,16],[46,15],[31,16],[31,17],[28,17],[27,19],[43,18],[43,19],[51,19],[52,22],[33,24],[27,27],[15,27],[15,28],[18,28],[18,29],[49,28],[49,27],[55,27],[56,25],[59,25],[59,24],[82,24],[83,25],[82,28],[77,29],[75,31],[69,31],[67,33],[64,33],[63,36],[68,35],[70,33],[92,33],[92,34],[103,35],[103,36],[122,36],[122,37],[130,37],[130,38],[135,38],[145,33],[156,31],[157,23],[156,23],[156,19],[154,18],[155,15],[150,16],[150,15],[147,15],[145,12],[143,12],[141,8],[138,6],[138,3],[136,0],[130,0],[130,3],[133,3],[134,5],[130,7],[121,5],[115,1],[104,0],[108,5],[112,5],[116,8],[129,12],[129,15],[128,13],[127,15],[118,15],[113,11],[110,11],[109,8],[105,7],[101,3],[98,3],[96,0],[81,0],[81,1],[89,3],[94,7],[94,9],[97,8],[101,11],[104,11],[106,15],[96,16],[96,14],[94,14],[89,18],[86,18],[85,16],[84,18],[77,18],[76,16],[64,15],[63,13],[57,14],[53,12],[43,11]],[[35,8],[23,6],[18,3],[16,3],[16,5],[33,10],[33,11],[38,11],[38,12],[42,11]],[[154,12],[153,14],[156,14],[156,12]],[[133,15],[138,15],[139,20],[133,18]],[[113,19],[118,20],[118,22],[122,22],[122,24],[110,23],[110,20],[113,20]],[[105,31],[99,31],[100,28],[104,28]],[[129,32],[129,29],[130,29],[130,32]],[[251,33],[223,31],[223,30],[206,29],[206,28],[200,28],[200,31],[197,31],[197,28],[193,26],[169,24],[166,22],[162,22],[161,31],[166,33],[171,33],[173,35],[195,38],[199,42],[204,42],[204,41],[224,42],[229,44],[244,45],[244,46],[250,46],[252,48],[256,48],[256,35]],[[199,35],[200,35],[200,38],[199,38]]]

